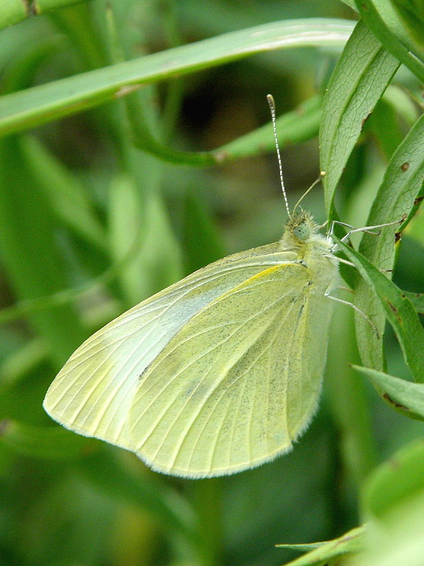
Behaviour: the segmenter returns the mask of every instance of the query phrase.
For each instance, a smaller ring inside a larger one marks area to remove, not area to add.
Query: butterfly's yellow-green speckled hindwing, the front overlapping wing
[[[217,296],[140,377],[132,450],[161,472],[220,476],[290,450],[317,406],[331,301],[300,263]]]

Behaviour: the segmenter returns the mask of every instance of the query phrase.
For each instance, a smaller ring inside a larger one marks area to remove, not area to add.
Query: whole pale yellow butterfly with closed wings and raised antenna
[[[47,413],[188,478],[291,450],[317,408],[339,268],[282,189],[280,242],[211,263],[96,332],[51,384]]]

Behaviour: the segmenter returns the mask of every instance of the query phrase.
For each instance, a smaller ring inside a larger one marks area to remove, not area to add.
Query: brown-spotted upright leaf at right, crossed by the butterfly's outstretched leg
[[[393,154],[384,179],[369,213],[367,225],[375,226],[386,222],[408,220],[421,201],[417,201],[424,183],[424,114],[410,129],[406,138]],[[364,234],[360,242],[360,253],[365,255],[381,270],[392,270],[395,263],[395,232],[401,226],[379,229],[380,235]],[[386,273],[390,277],[390,272]],[[356,306],[373,319],[380,334],[384,330],[384,312],[377,298],[369,293],[367,283],[359,281],[356,287]],[[382,343],[377,341],[375,332],[360,316],[356,316],[358,348],[365,366],[384,370]]]

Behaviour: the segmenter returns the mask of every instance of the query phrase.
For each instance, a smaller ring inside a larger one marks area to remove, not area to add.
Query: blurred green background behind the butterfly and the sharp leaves
[[[1,92],[310,17],[357,16],[326,0],[79,3],[0,32]],[[278,114],[319,101],[340,51],[261,53],[0,140],[0,564],[282,564],[295,554],[277,543],[332,539],[356,526],[363,478],[418,437],[421,424],[390,410],[349,369],[360,361],[345,307],[334,316],[313,423],[291,454],[250,472],[161,476],[129,452],[65,431],[42,409],[57,370],[96,329],[284,229],[274,150],[209,167],[167,163],[133,144],[126,103],[164,144],[209,151],[267,123],[268,92]],[[336,201],[346,222],[365,223],[382,179],[384,117],[395,116],[394,139],[416,119],[403,88],[419,87],[404,70],[397,79],[402,88],[380,101],[343,175]],[[314,116],[301,141],[280,132],[292,206],[319,173]],[[320,186],[304,205],[325,220]],[[422,222],[403,238],[395,272],[411,291],[424,280]],[[408,378],[390,330],[386,346],[389,371]]]

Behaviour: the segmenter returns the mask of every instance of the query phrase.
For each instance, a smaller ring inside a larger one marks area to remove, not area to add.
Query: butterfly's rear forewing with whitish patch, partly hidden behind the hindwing
[[[88,338],[44,399],[54,420],[133,449],[129,411],[140,375],[205,305],[263,269],[293,257],[269,244],[226,257],[133,307]]]

